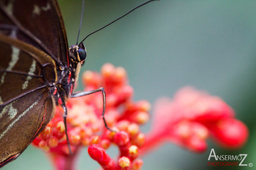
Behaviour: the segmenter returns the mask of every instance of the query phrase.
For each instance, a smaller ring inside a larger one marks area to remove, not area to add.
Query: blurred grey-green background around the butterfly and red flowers
[[[145,0],[86,0],[80,40]],[[76,43],[82,1],[59,0],[69,46]],[[104,63],[128,72],[135,100],[151,104],[181,87],[191,85],[223,98],[237,118],[250,129],[249,141],[236,151],[208,141],[204,154],[191,153],[168,143],[143,157],[143,170],[255,169],[256,167],[256,1],[153,2],[90,36],[85,70],[99,71]],[[80,75],[81,75],[80,74]],[[78,90],[82,90],[81,81]],[[150,123],[142,127],[146,132]],[[210,149],[217,155],[248,154],[253,167],[207,166]],[[117,149],[108,153],[114,157]],[[79,156],[78,169],[98,169],[87,154]],[[8,169],[52,169],[44,153],[29,146]]]

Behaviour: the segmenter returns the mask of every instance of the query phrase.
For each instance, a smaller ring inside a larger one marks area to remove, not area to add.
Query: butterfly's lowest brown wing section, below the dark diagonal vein
[[[0,167],[16,159],[44,129],[53,103],[42,88],[0,108]]]

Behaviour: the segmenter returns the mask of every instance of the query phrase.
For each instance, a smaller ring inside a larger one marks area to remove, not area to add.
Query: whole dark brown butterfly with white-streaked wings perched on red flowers
[[[67,135],[68,98],[101,91],[104,116],[103,88],[73,94],[86,59],[82,42],[68,47],[56,0],[0,0],[0,167],[16,159],[37,137],[53,118],[57,104],[64,109]],[[103,121],[109,129],[104,117]]]

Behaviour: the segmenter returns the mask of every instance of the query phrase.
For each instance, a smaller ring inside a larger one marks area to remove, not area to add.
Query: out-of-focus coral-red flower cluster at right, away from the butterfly
[[[230,149],[241,147],[248,139],[248,128],[234,118],[232,108],[217,96],[191,87],[179,90],[173,100],[159,99],[154,108],[152,128],[142,153],[168,141],[203,152],[209,135]]]

